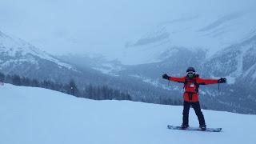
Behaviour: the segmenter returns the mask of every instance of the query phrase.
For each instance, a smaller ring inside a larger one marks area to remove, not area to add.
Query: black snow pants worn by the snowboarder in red
[[[195,114],[198,116],[199,125],[206,125],[199,102],[185,102],[183,103],[183,125],[189,125],[190,106],[193,107]]]

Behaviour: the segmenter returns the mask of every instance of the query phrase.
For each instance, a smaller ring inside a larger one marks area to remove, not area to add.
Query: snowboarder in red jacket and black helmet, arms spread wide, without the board
[[[163,74],[162,78],[165,78],[172,82],[180,82],[184,84],[184,102],[183,102],[183,118],[182,129],[189,127],[189,113],[190,106],[193,107],[195,114],[198,116],[199,126],[202,130],[206,130],[205,118],[202,114],[202,110],[198,98],[199,85],[210,85],[217,83],[226,83],[226,78],[220,79],[202,79],[195,73],[194,67],[189,67],[186,70],[186,76],[182,78],[170,77],[167,74]]]

